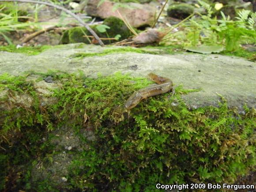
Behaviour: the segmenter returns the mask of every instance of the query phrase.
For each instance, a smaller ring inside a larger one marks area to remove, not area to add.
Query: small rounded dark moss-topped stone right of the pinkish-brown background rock
[[[169,17],[177,19],[185,19],[194,12],[194,7],[189,4],[172,4],[167,9],[167,15]]]

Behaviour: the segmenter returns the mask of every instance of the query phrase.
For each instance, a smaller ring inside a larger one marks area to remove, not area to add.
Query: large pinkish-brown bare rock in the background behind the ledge
[[[125,7],[119,7],[115,9],[117,4],[105,0],[100,6],[97,7],[100,0],[89,0],[86,8],[88,15],[94,17],[100,17],[106,19],[110,16],[115,16],[120,19],[122,15],[126,18],[130,25],[134,27],[139,26],[151,26],[154,23],[155,9],[148,4],[137,4],[137,3],[127,3],[122,4]],[[118,14],[120,12],[120,15]]]

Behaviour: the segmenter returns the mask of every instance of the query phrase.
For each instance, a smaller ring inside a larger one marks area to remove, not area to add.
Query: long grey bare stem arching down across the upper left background
[[[98,35],[90,28],[89,25],[84,23],[84,21],[79,16],[75,15],[74,13],[69,11],[68,9],[60,7],[59,5],[51,4],[51,3],[48,3],[48,2],[44,2],[44,1],[35,1],[35,0],[0,0],[0,2],[20,2],[20,3],[31,3],[31,4],[43,4],[43,5],[47,5],[49,7],[53,7],[53,8],[59,9],[61,11],[64,11],[67,14],[71,15],[72,17],[74,17],[77,21],[79,21],[79,23],[81,23],[85,28],[87,28],[88,31],[90,31],[90,33],[99,42],[99,44],[101,46],[104,46],[104,43],[102,42],[102,40],[100,40]]]

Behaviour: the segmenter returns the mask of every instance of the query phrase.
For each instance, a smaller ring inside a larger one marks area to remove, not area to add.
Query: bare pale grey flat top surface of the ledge
[[[191,107],[218,105],[220,98],[217,92],[228,100],[230,106],[241,109],[246,103],[249,107],[256,108],[256,63],[243,58],[218,54],[152,55],[132,52],[87,56],[83,59],[73,57],[74,53],[96,54],[102,53],[105,49],[119,48],[69,44],[53,47],[35,56],[0,52],[0,74],[7,72],[12,75],[22,75],[23,72],[28,71],[60,70],[82,71],[87,76],[96,78],[98,73],[111,75],[122,72],[146,77],[149,72],[154,72],[172,79],[175,86],[183,84],[186,89],[201,89],[183,95],[186,103]],[[154,50],[159,52],[159,49]],[[45,84],[55,83],[45,82]]]

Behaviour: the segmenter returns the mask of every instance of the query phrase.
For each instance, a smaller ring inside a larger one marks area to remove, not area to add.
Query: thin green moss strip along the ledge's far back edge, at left
[[[16,48],[16,45],[0,46],[0,51],[8,51],[13,53],[26,53],[28,55],[37,55],[47,49],[53,48],[53,46],[43,45],[43,46],[29,46]]]

